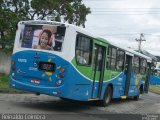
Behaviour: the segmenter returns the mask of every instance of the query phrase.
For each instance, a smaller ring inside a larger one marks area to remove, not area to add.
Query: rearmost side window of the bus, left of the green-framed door
[[[84,35],[77,35],[76,41],[76,62],[79,65],[91,64],[92,44],[91,38]]]

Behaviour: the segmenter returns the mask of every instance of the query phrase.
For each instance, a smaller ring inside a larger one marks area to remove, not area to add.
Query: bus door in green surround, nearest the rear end
[[[93,84],[91,98],[100,98],[105,70],[106,47],[95,44],[93,57]]]

